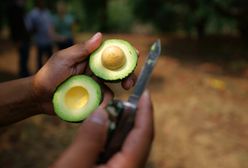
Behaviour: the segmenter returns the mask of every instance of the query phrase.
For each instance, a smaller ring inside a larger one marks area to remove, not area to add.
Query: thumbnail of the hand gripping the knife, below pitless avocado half
[[[98,108],[89,118],[93,123],[99,125],[105,125],[108,122],[107,115],[104,113],[103,109]]]

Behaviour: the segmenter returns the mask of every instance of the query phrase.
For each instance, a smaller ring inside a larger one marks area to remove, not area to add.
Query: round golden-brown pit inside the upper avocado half
[[[110,70],[121,68],[126,62],[125,53],[117,46],[108,46],[102,52],[102,64]]]

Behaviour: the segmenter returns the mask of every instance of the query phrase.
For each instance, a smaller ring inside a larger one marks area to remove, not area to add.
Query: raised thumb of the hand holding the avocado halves
[[[96,50],[100,46],[101,41],[102,34],[98,32],[85,43],[78,43],[59,51],[63,52],[63,54],[59,55],[61,55],[63,58],[69,58],[72,63],[78,63],[83,61],[85,58],[87,58],[87,56],[89,56],[90,53]]]

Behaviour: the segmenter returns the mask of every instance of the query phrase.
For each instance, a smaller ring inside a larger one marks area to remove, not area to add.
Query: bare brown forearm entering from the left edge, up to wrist
[[[33,77],[0,84],[0,126],[39,114],[42,110],[32,87]]]

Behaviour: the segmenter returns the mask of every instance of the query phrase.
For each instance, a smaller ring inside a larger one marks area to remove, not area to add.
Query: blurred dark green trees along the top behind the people
[[[56,12],[60,0],[45,0]],[[248,36],[247,0],[64,0],[81,31],[129,32],[133,23],[152,24],[158,31],[184,31],[188,35],[239,31]],[[8,1],[9,2],[9,1]],[[4,25],[7,1],[0,7]],[[27,10],[34,6],[26,1]]]

